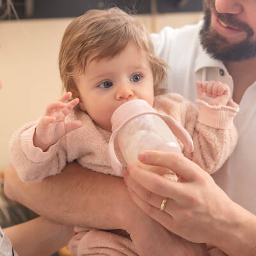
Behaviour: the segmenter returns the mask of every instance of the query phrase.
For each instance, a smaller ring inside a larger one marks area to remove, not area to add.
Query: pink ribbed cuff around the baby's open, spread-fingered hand
[[[26,154],[30,161],[35,163],[40,163],[46,161],[49,157],[52,156],[54,149],[58,142],[54,145],[51,145],[45,152],[34,145],[34,134],[36,130],[36,125],[30,127],[26,131],[20,134],[20,145],[23,152]]]

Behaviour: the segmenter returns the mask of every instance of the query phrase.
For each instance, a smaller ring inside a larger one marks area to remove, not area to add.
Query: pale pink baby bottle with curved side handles
[[[130,100],[119,106],[111,117],[111,124],[108,154],[116,175],[122,176],[123,168],[115,154],[115,143],[118,143],[127,165],[138,162],[138,154],[145,150],[181,153],[175,136],[186,151],[193,151],[188,131],[171,116],[158,113],[145,100]]]

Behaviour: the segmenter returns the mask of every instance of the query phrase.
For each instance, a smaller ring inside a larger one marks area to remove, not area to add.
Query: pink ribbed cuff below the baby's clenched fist
[[[199,113],[198,122],[216,129],[230,129],[239,106],[228,100],[227,106],[211,106],[204,100],[196,100]]]

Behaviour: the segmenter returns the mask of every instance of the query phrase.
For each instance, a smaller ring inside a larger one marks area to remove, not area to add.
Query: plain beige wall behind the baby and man
[[[148,29],[179,28],[202,19],[202,13],[138,16]],[[0,21],[0,172],[9,164],[8,141],[26,122],[36,120],[45,106],[61,95],[58,51],[72,19]]]

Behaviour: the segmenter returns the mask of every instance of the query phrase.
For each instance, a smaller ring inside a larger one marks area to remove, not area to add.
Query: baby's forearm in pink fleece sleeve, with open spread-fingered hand
[[[78,127],[80,121],[65,123],[65,116],[79,102],[68,103],[66,93],[53,102],[37,123],[21,127],[10,140],[10,160],[24,182],[40,182],[49,175],[60,173],[67,161],[65,135]]]

